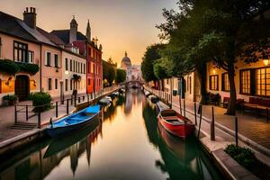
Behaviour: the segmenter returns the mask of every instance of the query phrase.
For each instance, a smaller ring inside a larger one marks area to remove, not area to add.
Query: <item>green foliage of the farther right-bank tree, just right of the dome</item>
[[[141,62],[141,73],[145,81],[157,80],[157,76],[154,74],[154,62],[161,58],[159,51],[164,48],[163,44],[148,46]]]

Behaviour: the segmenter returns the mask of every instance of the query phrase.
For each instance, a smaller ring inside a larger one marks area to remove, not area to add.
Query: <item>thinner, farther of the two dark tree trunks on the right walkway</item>
[[[198,78],[201,86],[201,104],[206,104],[206,64],[203,63],[201,67],[197,67]]]

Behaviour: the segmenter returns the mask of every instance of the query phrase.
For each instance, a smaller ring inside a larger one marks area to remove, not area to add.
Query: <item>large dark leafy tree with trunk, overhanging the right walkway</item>
[[[266,36],[253,36],[253,19],[269,8],[269,1],[179,0],[178,5],[180,13],[164,10],[166,23],[157,26],[162,31],[160,37],[169,40],[172,49],[181,53],[173,55],[172,64],[181,67],[178,68],[180,75],[205,67],[205,63],[211,60],[227,70],[230,85],[227,113],[235,114],[235,62],[240,55],[250,59],[248,62],[251,59],[257,61],[257,53],[250,51],[269,47]],[[263,45],[262,41],[265,42]],[[261,54],[267,55],[266,50],[261,50]]]

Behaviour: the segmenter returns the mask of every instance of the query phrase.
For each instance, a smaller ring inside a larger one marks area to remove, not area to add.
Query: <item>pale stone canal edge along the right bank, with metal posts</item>
[[[157,96],[159,96],[159,94],[162,94],[162,93],[158,93],[158,91],[156,93],[154,93],[154,91],[151,91],[150,88],[146,88],[146,89],[150,93],[156,94]],[[175,103],[173,103],[173,109],[176,112],[180,112],[179,106]],[[184,109],[182,109],[182,112],[186,115],[187,118],[189,118],[190,120],[193,121],[193,123],[195,123],[194,112],[192,112],[190,110],[186,110],[184,112]],[[196,115],[196,116],[197,116],[196,118],[197,118],[197,123],[198,123],[198,126],[196,126],[196,134],[197,134],[198,130],[199,130],[200,116],[199,115]],[[232,130],[228,130],[228,129],[224,130],[224,128],[223,129],[220,128],[220,127],[222,127],[222,125],[215,122],[215,135],[216,136],[215,136],[215,140],[211,140],[211,123],[210,122],[211,122],[211,120],[205,120],[205,117],[204,118],[202,117],[202,126],[201,126],[201,130],[200,130],[200,134],[202,136],[200,136],[199,140],[202,143],[202,146],[204,147],[206,152],[213,159],[215,164],[219,167],[220,172],[229,179],[257,179],[257,177],[255,175],[251,174],[243,166],[239,166],[238,163],[234,159],[229,157],[229,155],[227,155],[224,152],[224,149],[229,144],[235,143],[234,132],[231,132]],[[255,152],[256,157],[261,162],[264,162],[264,164],[266,164],[266,168],[269,169],[269,165],[270,165],[269,157],[267,157],[265,154],[261,153],[261,151],[254,149],[254,147],[249,147],[248,145],[250,145],[250,143],[247,144],[246,142],[250,142],[250,141],[252,141],[252,140],[250,140],[250,139],[247,140],[247,138],[246,138],[246,140],[244,142],[239,140],[238,144],[241,147],[251,148]],[[254,144],[256,144],[256,143],[254,143]],[[257,145],[256,147],[259,149],[261,148],[260,145]],[[266,148],[261,148],[261,149],[264,151]],[[264,152],[267,152],[267,149]],[[264,174],[266,172],[261,171],[261,173]],[[260,175],[260,173],[257,173],[257,175]],[[263,179],[268,179],[268,176],[264,176],[264,175],[260,175],[260,176],[263,177]]]

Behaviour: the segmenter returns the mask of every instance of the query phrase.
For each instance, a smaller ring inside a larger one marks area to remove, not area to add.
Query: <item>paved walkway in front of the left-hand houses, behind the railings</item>
[[[107,87],[103,89],[103,94],[110,94],[112,91],[115,91],[119,86],[113,86],[113,87]],[[77,97],[83,96],[85,94],[78,94]],[[69,99],[70,96],[66,96],[65,99]],[[53,102],[58,102],[59,98],[54,98]],[[83,98],[81,98],[80,103],[84,103],[87,101],[87,98],[85,97],[85,101],[83,101]],[[91,101],[91,99],[90,99]],[[77,100],[78,103],[78,100]],[[20,102],[17,105],[31,105],[31,101],[27,102]],[[71,113],[74,110],[76,110],[76,107],[70,104],[69,101],[69,108],[68,112]],[[24,107],[17,106],[17,110],[23,109]],[[26,121],[26,113],[25,109],[22,110],[22,113],[18,113],[17,121],[18,122],[29,122],[29,123],[36,123],[38,122],[38,116],[34,116],[29,121]],[[31,112],[31,108],[29,108],[29,116],[31,116],[33,113]],[[53,108],[49,110],[48,112],[42,112],[41,114],[41,126],[43,124],[49,123],[49,119],[52,118],[52,120],[56,120],[56,108]],[[58,103],[58,118],[67,115],[67,101],[65,101],[64,104]],[[14,138],[17,135],[23,134],[25,132],[28,132],[30,130],[18,130],[18,129],[12,129],[11,127],[14,125],[14,106],[7,106],[7,107],[0,107],[0,142],[3,142],[6,139]]]

